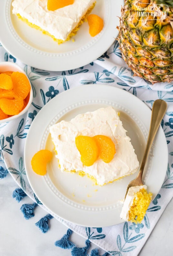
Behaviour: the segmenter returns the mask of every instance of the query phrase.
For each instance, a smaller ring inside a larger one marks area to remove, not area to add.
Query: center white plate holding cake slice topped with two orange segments
[[[123,199],[137,176],[150,118],[144,102],[116,87],[84,85],[58,94],[38,112],[26,137],[24,162],[32,190],[51,213],[66,221],[86,227],[123,222]],[[31,164],[41,150],[52,155],[44,175]],[[153,199],[167,165],[160,126],[143,174]]]

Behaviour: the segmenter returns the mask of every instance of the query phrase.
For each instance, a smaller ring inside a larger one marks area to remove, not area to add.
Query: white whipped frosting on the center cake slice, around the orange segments
[[[61,121],[50,127],[50,133],[57,151],[61,170],[84,171],[92,175],[97,183],[109,181],[137,171],[139,162],[126,130],[112,107],[100,108],[93,112],[79,114],[71,121]],[[116,146],[116,154],[111,162],[105,163],[98,158],[92,166],[84,166],[75,145],[78,135],[106,135]]]

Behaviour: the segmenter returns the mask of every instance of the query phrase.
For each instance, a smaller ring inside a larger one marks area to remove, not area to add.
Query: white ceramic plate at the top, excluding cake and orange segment
[[[11,3],[12,0],[0,1],[0,41],[5,49],[30,66],[63,71],[84,66],[107,51],[118,35],[116,27],[124,1],[98,0],[92,13],[103,17],[103,30],[93,38],[84,22],[74,37],[75,42],[61,45],[13,15]]]

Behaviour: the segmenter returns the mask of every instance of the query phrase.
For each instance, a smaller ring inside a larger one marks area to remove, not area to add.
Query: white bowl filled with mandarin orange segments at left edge
[[[13,62],[0,63],[0,123],[28,111],[33,100],[31,83],[24,70]]]

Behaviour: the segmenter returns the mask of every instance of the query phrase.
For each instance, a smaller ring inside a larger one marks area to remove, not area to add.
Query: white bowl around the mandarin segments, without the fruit
[[[18,72],[25,74],[25,76],[27,77],[24,70],[21,67],[19,67],[17,64],[15,64],[13,62],[8,62],[8,61],[0,62],[0,73],[6,72],[6,71],[14,71],[14,72],[18,71]],[[27,79],[28,79],[28,77],[27,77]],[[28,81],[29,81],[29,79],[28,79]],[[27,105],[25,106],[25,109],[23,109],[18,115],[10,116],[8,118],[0,120],[0,123],[9,122],[11,120],[14,120],[14,119],[18,118],[19,116],[23,115],[29,109],[29,107],[32,103],[32,100],[33,100],[33,90],[32,90],[30,81],[29,81],[29,84],[30,84],[29,100],[28,100]]]

